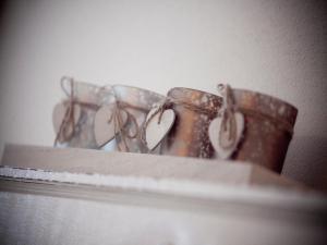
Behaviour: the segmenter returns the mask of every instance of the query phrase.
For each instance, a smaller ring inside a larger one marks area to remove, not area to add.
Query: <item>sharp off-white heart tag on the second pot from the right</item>
[[[158,112],[158,107],[153,108],[146,117],[145,140],[149,150],[155,149],[165,138],[172,127],[175,119],[175,114],[172,109],[166,109],[162,112],[160,123],[159,117],[160,113]]]

